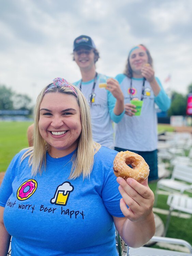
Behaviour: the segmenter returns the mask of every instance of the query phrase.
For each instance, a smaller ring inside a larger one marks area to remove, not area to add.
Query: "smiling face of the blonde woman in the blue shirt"
[[[47,93],[43,97],[40,105],[39,131],[50,145],[51,157],[63,157],[73,152],[77,147],[81,130],[80,110],[73,95]]]

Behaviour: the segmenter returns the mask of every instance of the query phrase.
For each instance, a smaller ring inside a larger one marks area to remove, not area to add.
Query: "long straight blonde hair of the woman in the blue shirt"
[[[66,81],[67,82],[67,81]],[[51,84],[50,84],[51,85]],[[69,179],[76,179],[81,174],[83,179],[90,176],[93,168],[94,154],[100,149],[101,145],[92,139],[90,110],[86,98],[82,92],[74,85],[69,86],[46,86],[39,94],[35,106],[35,122],[33,147],[29,148],[21,158],[23,161],[29,156],[29,166],[32,165],[32,175],[42,173],[46,168],[46,152],[49,151],[50,145],[41,137],[39,131],[39,111],[43,96],[46,93],[63,93],[73,95],[80,109],[82,131],[78,140],[77,152],[72,157],[72,169]],[[49,88],[50,87],[50,88]]]

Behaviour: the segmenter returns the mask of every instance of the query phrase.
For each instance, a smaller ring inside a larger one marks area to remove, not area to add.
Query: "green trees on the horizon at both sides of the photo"
[[[171,93],[171,107],[167,111],[168,116],[186,115],[187,98],[192,93],[192,83],[187,88],[187,94],[176,91]],[[11,88],[0,85],[0,110],[29,110],[32,113],[32,99],[26,94],[17,94]]]

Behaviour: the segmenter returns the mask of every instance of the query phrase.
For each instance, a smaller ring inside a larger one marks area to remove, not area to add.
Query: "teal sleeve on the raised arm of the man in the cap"
[[[118,77],[118,75],[116,76]],[[118,81],[118,79],[115,77],[115,79]],[[119,81],[118,81],[119,82]],[[119,82],[120,84],[120,82]],[[116,115],[114,113],[114,108],[115,108],[115,104],[116,104],[116,98],[113,96],[112,93],[110,93],[110,91],[107,91],[107,101],[108,101],[108,109],[109,109],[109,114],[110,114],[110,118],[115,122],[115,123],[119,123],[121,121],[121,119],[123,118],[123,115],[125,113],[125,110],[120,114],[120,115]]]

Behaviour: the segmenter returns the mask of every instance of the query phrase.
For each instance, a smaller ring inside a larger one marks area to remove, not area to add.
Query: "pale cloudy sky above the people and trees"
[[[122,73],[142,43],[167,92],[192,83],[191,0],[0,0],[0,84],[35,101],[55,77],[79,80],[71,53],[81,34],[100,52],[98,72]]]

